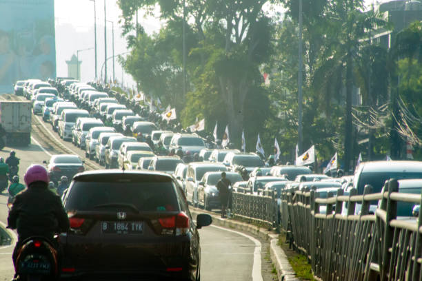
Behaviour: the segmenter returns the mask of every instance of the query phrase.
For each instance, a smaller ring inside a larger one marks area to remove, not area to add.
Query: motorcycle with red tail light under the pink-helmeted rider
[[[58,280],[58,259],[57,249],[47,238],[34,236],[24,240],[15,263],[18,280]]]

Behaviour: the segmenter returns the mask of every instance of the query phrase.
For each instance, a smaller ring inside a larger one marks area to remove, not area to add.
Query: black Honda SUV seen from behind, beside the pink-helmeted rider
[[[176,180],[141,171],[86,171],[63,198],[70,231],[61,236],[62,278],[199,280],[197,229]]]

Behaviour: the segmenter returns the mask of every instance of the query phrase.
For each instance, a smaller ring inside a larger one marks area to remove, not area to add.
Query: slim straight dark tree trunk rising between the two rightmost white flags
[[[352,55],[348,50],[348,58],[346,65],[346,105],[345,105],[345,139],[344,139],[344,171],[349,173],[350,160],[352,159],[352,87],[353,87],[353,73],[352,73]]]

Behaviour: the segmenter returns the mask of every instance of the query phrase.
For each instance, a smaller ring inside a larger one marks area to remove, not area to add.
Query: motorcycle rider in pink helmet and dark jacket
[[[12,254],[15,271],[16,259],[23,241],[32,236],[41,236],[47,238],[52,246],[60,251],[59,244],[54,240],[54,233],[66,232],[70,228],[68,214],[59,196],[48,189],[50,179],[47,169],[37,164],[30,165],[24,180],[28,189],[14,198],[8,216],[8,228],[17,229],[18,233],[18,241]]]

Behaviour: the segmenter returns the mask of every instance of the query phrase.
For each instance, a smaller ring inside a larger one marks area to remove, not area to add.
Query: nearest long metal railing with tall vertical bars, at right
[[[419,220],[396,218],[397,202],[421,204],[421,195],[398,192],[397,180],[381,193],[365,187],[357,196],[339,189],[318,198],[312,189],[285,189],[281,194],[281,226],[293,245],[308,257],[321,280],[421,280],[422,227]],[[375,214],[371,201],[381,200]],[[356,205],[361,204],[361,209]],[[325,206],[325,214],[320,207]],[[287,212],[286,212],[287,210]]]

